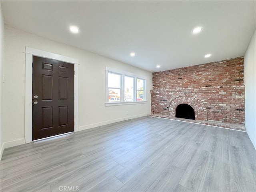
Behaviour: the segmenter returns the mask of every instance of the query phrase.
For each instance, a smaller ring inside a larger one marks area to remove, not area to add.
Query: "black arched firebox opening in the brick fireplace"
[[[176,108],[176,117],[184,119],[195,119],[195,111],[188,104],[180,104]]]

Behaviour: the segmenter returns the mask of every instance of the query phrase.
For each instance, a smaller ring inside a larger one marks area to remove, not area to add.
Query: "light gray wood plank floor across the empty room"
[[[5,149],[1,191],[255,192],[255,158],[246,132],[146,116]]]

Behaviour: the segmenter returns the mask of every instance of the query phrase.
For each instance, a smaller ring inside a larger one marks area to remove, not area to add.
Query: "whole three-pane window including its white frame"
[[[106,67],[106,104],[146,101],[146,78]]]

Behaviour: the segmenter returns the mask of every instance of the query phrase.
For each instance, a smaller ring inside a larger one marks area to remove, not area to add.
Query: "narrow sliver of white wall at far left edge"
[[[0,9],[0,159],[2,157],[3,152],[3,127],[2,127],[2,90],[3,90],[3,61],[4,61],[4,16],[2,12],[2,8]]]

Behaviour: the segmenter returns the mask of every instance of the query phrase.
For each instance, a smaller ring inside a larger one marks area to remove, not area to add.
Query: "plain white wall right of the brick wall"
[[[245,127],[256,149],[256,31],[244,55]]]

